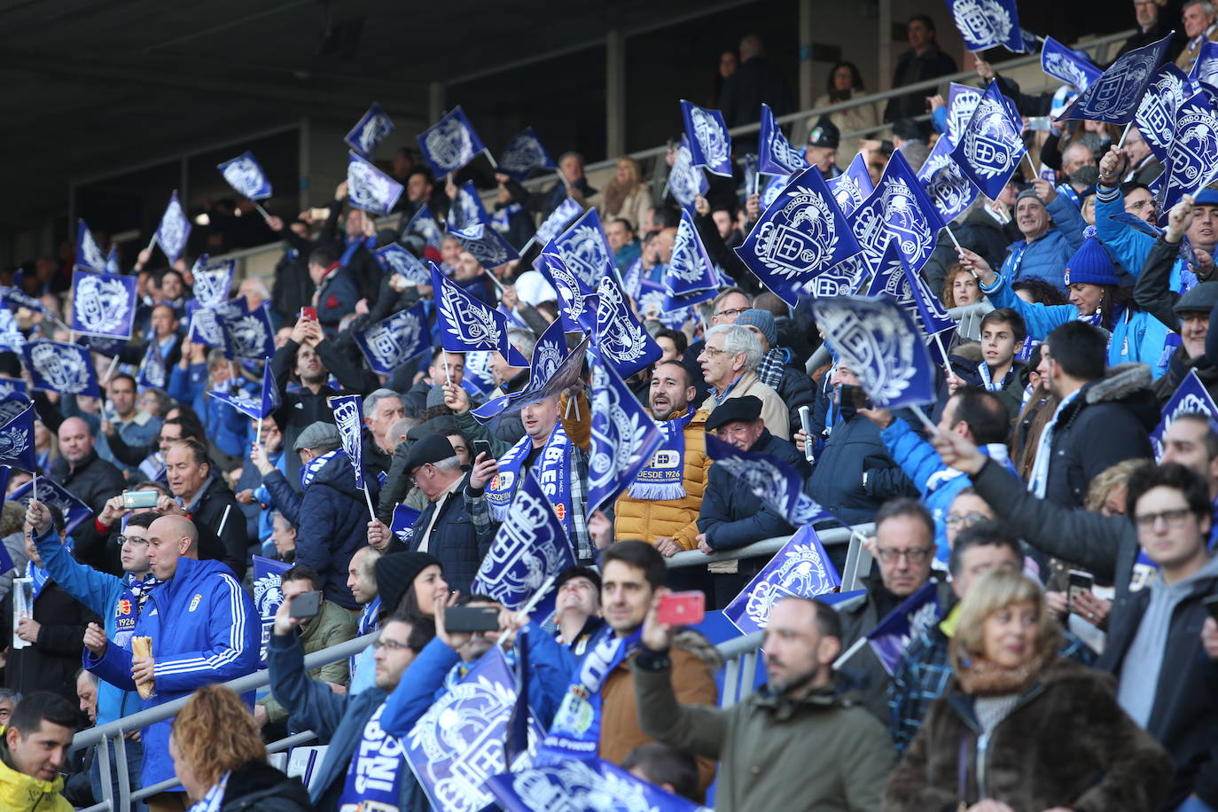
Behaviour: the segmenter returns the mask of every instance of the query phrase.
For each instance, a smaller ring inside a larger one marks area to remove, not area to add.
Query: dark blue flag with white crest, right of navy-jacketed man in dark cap
[[[473,590],[524,606],[551,576],[575,564],[571,539],[532,470],[521,474],[512,508],[474,577]],[[553,604],[553,600],[549,601]]]

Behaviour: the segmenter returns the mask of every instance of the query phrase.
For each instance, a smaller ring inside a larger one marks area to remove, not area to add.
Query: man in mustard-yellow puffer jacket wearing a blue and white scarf
[[[698,510],[710,472],[706,411],[695,411],[695,390],[680,362],[655,368],[648,405],[665,438],[615,504],[616,541],[638,538],[665,556],[698,549]]]

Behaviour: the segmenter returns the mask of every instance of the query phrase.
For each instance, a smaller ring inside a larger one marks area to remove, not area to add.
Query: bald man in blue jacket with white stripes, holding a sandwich
[[[253,600],[228,566],[199,560],[195,523],[180,515],[161,516],[149,526],[147,538],[149,562],[161,583],[138,598],[155,610],[140,612],[134,638],[151,638],[152,656],[135,657],[129,648],[102,640],[89,646],[85,667],[124,690],[152,688],[152,698],[143,700],[145,709],[257,670]],[[245,700],[252,705],[253,693]],[[144,786],[173,777],[169,721],[158,722],[144,730]],[[149,801],[151,806],[153,799]]]

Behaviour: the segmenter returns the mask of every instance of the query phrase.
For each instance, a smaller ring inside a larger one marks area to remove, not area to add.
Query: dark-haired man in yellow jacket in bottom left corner
[[[62,696],[40,690],[17,702],[0,729],[0,810],[72,812],[60,795],[78,713]]]

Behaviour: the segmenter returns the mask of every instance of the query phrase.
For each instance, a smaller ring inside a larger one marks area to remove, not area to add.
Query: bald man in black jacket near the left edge
[[[94,436],[80,418],[68,418],[60,424],[60,458],[51,464],[51,478],[100,514],[106,500],[123,492],[123,472],[97,457]],[[100,539],[100,542],[99,542]],[[106,536],[90,533],[88,541],[77,539],[77,560],[91,567],[121,576],[118,548],[105,544]]]

